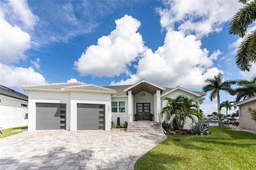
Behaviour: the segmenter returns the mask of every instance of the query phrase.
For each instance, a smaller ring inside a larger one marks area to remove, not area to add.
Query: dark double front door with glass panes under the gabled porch
[[[137,103],[136,105],[137,113],[140,115],[138,121],[150,121],[150,103]]]

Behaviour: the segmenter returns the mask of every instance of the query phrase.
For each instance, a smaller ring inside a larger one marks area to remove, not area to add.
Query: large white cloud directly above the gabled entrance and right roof
[[[166,87],[180,85],[185,88],[202,88],[204,80],[222,72],[213,67],[213,60],[221,54],[219,50],[209,55],[201,49],[201,41],[193,35],[168,32],[164,45],[153,53],[148,49],[139,60],[137,73],[126,81],[112,84],[131,84],[140,79],[148,79]]]

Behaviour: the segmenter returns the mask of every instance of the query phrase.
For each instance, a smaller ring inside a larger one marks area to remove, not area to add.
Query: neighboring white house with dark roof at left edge
[[[0,85],[0,127],[28,125],[28,96]]]

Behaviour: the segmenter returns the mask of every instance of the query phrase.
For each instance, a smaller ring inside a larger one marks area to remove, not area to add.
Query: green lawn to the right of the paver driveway
[[[210,135],[168,135],[138,159],[135,170],[256,169],[256,134],[210,128]]]

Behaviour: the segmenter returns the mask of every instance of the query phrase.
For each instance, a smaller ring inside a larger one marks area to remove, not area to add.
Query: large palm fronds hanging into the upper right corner
[[[241,71],[250,71],[256,63],[256,30],[246,35],[247,29],[256,20],[256,0],[238,0],[244,6],[234,15],[228,33],[244,38],[236,51],[236,65]]]

